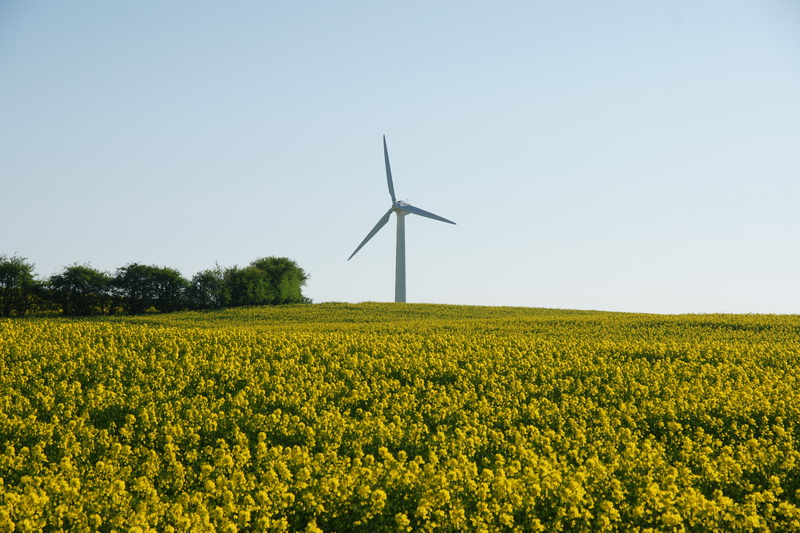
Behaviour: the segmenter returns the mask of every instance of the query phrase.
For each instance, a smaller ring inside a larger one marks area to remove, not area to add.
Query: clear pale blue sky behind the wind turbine
[[[800,4],[0,2],[0,253],[317,302],[800,313]]]

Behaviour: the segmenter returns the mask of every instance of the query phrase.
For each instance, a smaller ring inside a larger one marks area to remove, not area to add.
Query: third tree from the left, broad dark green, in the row
[[[188,282],[174,268],[131,263],[117,270],[114,286],[128,314],[142,314],[151,307],[157,311],[177,311],[184,307]]]

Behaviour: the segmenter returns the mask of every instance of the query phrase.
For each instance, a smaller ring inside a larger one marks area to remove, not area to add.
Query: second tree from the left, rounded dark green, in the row
[[[67,316],[86,316],[102,312],[111,297],[111,276],[89,265],[72,265],[50,278],[61,312]]]

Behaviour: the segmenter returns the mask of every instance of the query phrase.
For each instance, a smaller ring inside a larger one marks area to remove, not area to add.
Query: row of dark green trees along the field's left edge
[[[130,263],[112,275],[88,264],[64,267],[40,279],[25,258],[0,254],[0,316],[60,311],[66,316],[245,305],[309,303],[308,274],[291,259],[264,257],[248,266],[198,272],[184,278],[174,268]]]

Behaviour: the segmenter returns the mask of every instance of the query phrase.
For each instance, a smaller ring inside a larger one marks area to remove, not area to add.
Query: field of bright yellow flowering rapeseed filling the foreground
[[[0,321],[0,531],[800,531],[800,316]]]

